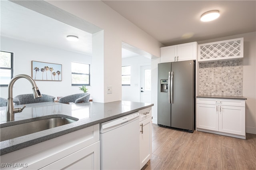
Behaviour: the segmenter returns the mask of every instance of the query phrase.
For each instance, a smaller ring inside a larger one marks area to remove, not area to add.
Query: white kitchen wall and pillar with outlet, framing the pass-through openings
[[[121,63],[122,42],[142,49],[156,57],[160,56],[160,46],[156,39],[112,10],[102,1],[47,1],[104,30],[104,102],[122,99]],[[119,66],[120,67],[119,67]],[[106,87],[112,86],[112,94]]]

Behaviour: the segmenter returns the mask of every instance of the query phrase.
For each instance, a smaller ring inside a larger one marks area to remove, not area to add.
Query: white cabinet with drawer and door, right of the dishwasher
[[[140,110],[140,169],[152,156],[152,113],[151,107]]]

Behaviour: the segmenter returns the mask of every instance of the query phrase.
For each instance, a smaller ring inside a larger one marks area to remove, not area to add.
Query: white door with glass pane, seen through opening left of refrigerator
[[[151,66],[141,66],[140,73],[140,102],[151,103]]]

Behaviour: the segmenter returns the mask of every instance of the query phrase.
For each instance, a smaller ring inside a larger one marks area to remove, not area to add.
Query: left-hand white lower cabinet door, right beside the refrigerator
[[[208,130],[219,130],[218,105],[196,105],[196,127]]]

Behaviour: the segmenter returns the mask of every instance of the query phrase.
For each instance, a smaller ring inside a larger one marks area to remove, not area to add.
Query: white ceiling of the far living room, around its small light
[[[67,41],[68,35],[79,41]],[[1,36],[92,55],[92,34],[10,1],[1,0]]]

